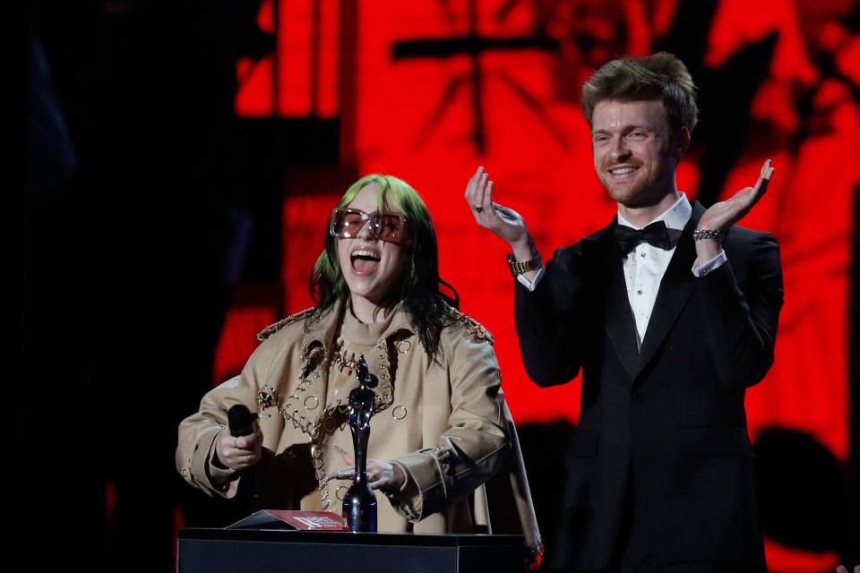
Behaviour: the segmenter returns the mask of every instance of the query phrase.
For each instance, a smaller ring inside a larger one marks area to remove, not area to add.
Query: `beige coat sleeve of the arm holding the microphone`
[[[257,393],[268,380],[269,369],[279,347],[271,339],[258,346],[239,376],[207,392],[197,413],[179,424],[176,469],[186,482],[209,495],[218,494],[225,498],[236,495],[236,472],[219,468],[213,462],[215,439],[228,425],[230,407],[244,404],[251,412],[257,411]]]

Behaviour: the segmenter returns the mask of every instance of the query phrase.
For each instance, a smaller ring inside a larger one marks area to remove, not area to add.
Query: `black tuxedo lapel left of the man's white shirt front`
[[[600,277],[606,295],[606,335],[612,341],[615,353],[624,364],[631,380],[636,376],[639,349],[636,346],[636,321],[630,309],[627,286],[624,282],[624,261],[615,243],[615,223],[598,233],[582,239],[583,254]]]

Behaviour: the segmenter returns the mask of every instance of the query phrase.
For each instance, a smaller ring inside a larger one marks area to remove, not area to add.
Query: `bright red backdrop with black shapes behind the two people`
[[[496,201],[520,211],[545,258],[606,225],[615,205],[593,174],[579,86],[613,56],[664,46],[670,27],[684,26],[680,3],[358,4],[357,13],[344,13],[335,0],[264,2],[259,23],[276,33],[277,50],[238,64],[236,112],[340,118],[341,167],[400,176],[426,200],[443,278],[458,289],[461,309],[495,334],[517,423],[575,422],[577,383],[538,389],[523,371],[505,246],[476,226],[462,192],[475,168],[485,166],[496,182]],[[765,426],[809,432],[842,462],[848,455],[851,201],[860,183],[860,38],[841,23],[851,4],[721,0],[701,61],[687,62],[717,73],[744,47],[773,38],[747,117],[738,117],[739,155],[718,189],[726,197],[753,184],[762,161],[773,159],[770,191],[742,224],[777,235],[786,304],[776,362],[748,393],[749,425],[753,439]],[[480,38],[503,41],[467,53],[467,40],[474,47]],[[398,56],[417,39],[435,42],[431,55]],[[452,53],[440,56],[443,46]],[[739,79],[727,79],[710,85],[720,91],[710,94],[711,102],[731,98]],[[703,108],[699,131],[710,127],[713,133],[716,117],[713,106]],[[701,191],[699,159],[706,152],[694,145],[679,168],[678,186],[691,199]],[[306,277],[327,213],[348,184],[340,179],[308,168],[284,184],[282,298],[272,304],[237,299],[219,341],[213,382],[241,367],[257,329],[311,304]],[[838,559],[776,543],[768,543],[768,556],[772,569],[786,571],[828,569]]]

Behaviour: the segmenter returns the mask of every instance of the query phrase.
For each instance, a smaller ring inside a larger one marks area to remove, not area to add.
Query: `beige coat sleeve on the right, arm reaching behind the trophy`
[[[493,346],[462,327],[453,328],[458,332],[450,343],[445,344],[443,338],[443,363],[451,388],[448,428],[436,447],[391,460],[405,471],[407,483],[389,499],[410,521],[419,521],[474,492],[503,467],[510,454]],[[434,364],[433,369],[444,367]],[[425,381],[435,382],[429,377]]]

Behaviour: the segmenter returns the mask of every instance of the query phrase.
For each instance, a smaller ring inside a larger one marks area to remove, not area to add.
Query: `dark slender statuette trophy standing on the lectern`
[[[374,415],[376,377],[368,372],[362,357],[356,369],[358,388],[349,392],[349,429],[355,449],[355,475],[343,498],[343,517],[349,531],[376,531],[376,496],[367,483],[367,442],[370,440],[370,417]]]

